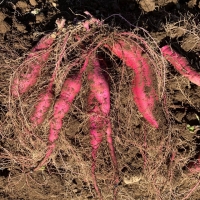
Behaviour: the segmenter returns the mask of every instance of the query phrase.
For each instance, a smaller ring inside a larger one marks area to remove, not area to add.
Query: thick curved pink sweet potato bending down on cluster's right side
[[[133,44],[127,44],[118,40],[112,46],[106,47],[125,64],[134,70],[132,91],[134,101],[143,117],[155,128],[158,128],[158,121],[153,111],[158,99],[152,83],[152,72],[147,59],[142,55],[142,50]]]

